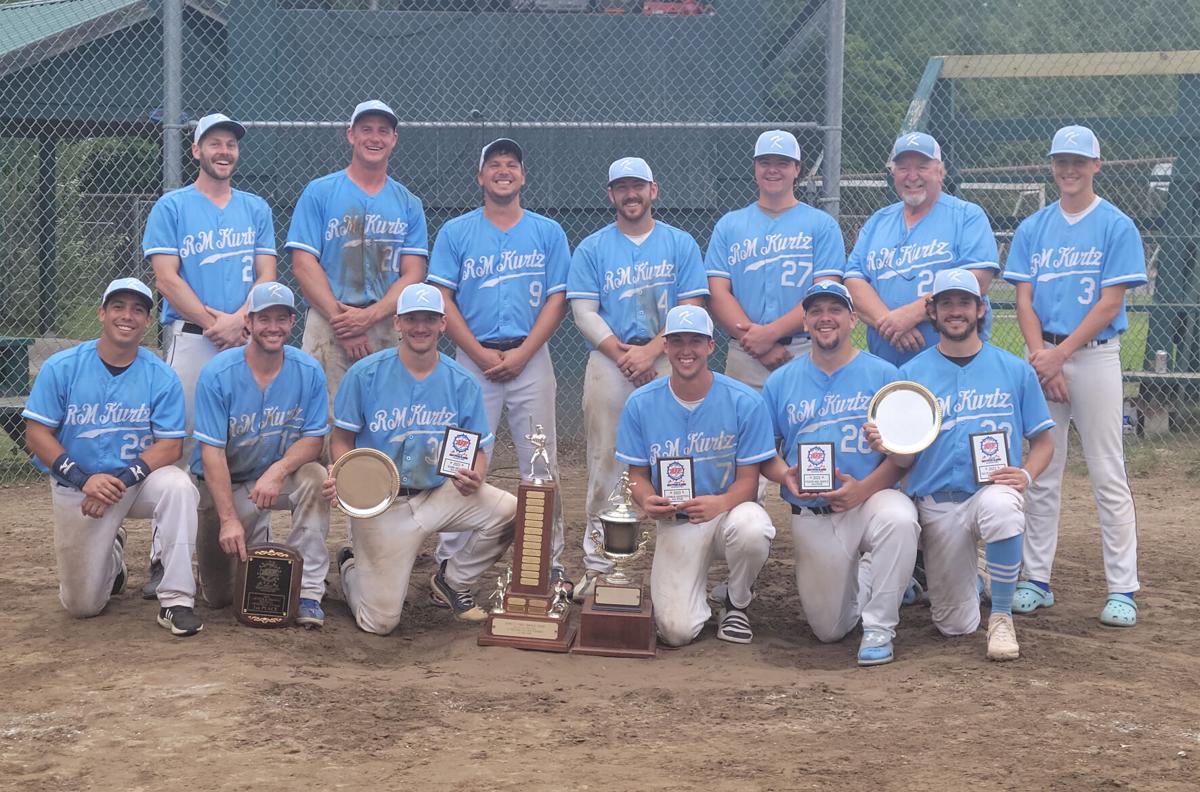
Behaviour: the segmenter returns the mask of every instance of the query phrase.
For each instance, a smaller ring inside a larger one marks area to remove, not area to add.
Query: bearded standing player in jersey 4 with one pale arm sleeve
[[[659,196],[650,166],[622,157],[608,166],[608,200],[616,222],[575,250],[566,298],[575,324],[592,344],[583,374],[583,424],[588,443],[586,571],[575,587],[582,602],[611,564],[592,541],[622,464],[613,456],[617,424],[634,389],[666,374],[662,324],[677,305],[703,305],[708,283],[700,246],[686,232],[655,220]]]

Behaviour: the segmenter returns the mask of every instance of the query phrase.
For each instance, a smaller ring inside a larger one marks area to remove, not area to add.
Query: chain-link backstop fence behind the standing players
[[[1054,130],[1088,124],[1098,190],[1135,220],[1151,268],[1122,340],[1132,428],[1195,439],[1198,20],[1200,0],[0,2],[0,481],[30,469],[31,373],[96,334],[107,280],[151,280],[142,227],[163,190],[194,179],[190,125],[246,124],[235,186],[268,199],[282,253],[305,184],[346,166],[365,98],[403,119],[391,173],[425,202],[431,241],[479,205],[479,149],[503,134],[526,149],[523,204],[572,246],[612,221],[607,164],[637,155],[660,182],[656,216],[703,248],[755,198],[755,137],[782,127],[808,160],[800,198],[835,214],[850,246],[895,199],[892,140],[923,128],[1003,257],[1056,197]],[[1012,290],[997,281],[992,299],[994,341],[1019,350]],[[587,346],[568,318],[551,348],[568,455],[582,449]]]

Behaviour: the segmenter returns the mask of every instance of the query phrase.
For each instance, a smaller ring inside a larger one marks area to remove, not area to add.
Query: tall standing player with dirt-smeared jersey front
[[[388,175],[398,121],[378,100],[355,107],[350,164],[308,182],[292,214],[284,247],[310,306],[302,347],[325,370],[331,400],[350,364],[396,344],[396,299],[425,280],[425,209]]]

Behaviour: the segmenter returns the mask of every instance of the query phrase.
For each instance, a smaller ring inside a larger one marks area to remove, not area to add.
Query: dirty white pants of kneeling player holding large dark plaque
[[[304,572],[300,576],[300,596],[320,601],[325,595],[325,572],[329,571],[329,502],[320,497],[325,482],[325,467],[308,462],[283,480],[283,491],[270,509],[259,509],[250,499],[253,481],[235,484],[233,505],[246,530],[246,546],[271,541],[271,512],[292,512],[292,533],[286,544],[300,553]],[[200,492],[199,521],[196,536],[196,571],[200,596],[212,607],[226,607],[233,601],[236,556],[221,550],[221,518],[212,493],[204,481],[197,482]]]

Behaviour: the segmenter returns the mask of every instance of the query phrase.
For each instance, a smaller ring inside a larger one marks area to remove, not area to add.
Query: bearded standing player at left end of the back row
[[[155,202],[142,238],[163,296],[164,356],[184,388],[188,433],[200,370],[222,349],[245,343],[246,295],[254,283],[275,280],[271,209],[232,184],[245,133],[221,113],[199,120],[192,136],[196,182]],[[181,464],[191,454],[188,437]],[[150,582],[142,596],[154,599],[161,580],[162,551],[152,536]]]

